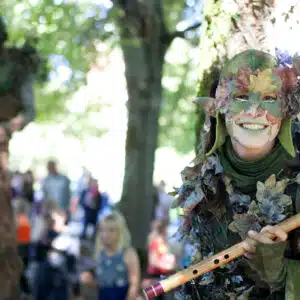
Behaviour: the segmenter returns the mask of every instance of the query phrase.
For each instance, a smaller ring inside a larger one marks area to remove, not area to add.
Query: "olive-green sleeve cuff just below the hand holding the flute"
[[[249,260],[250,266],[268,283],[272,291],[286,285],[287,259],[284,257],[286,243],[258,244],[256,255]]]

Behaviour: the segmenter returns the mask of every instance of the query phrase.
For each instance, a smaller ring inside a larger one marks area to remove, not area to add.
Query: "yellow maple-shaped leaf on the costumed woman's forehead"
[[[265,69],[258,72],[257,76],[251,74],[249,77],[249,91],[258,92],[261,95],[277,93],[280,86],[279,82],[274,81],[273,70]]]

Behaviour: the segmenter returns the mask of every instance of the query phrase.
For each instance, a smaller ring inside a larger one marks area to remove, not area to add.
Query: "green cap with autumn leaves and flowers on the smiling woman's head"
[[[216,108],[227,113],[232,99],[255,95],[256,99],[276,99],[282,116],[300,111],[300,88],[293,67],[277,67],[271,55],[242,53],[225,65],[216,92]]]

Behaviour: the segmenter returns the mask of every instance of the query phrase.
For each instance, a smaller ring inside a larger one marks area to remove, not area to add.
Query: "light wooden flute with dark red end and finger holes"
[[[294,215],[283,222],[275,225],[275,227],[280,227],[286,233],[300,227],[300,213]],[[275,239],[270,233],[261,232],[260,235],[268,236],[271,239]],[[187,269],[179,271],[178,273],[152,285],[146,289],[144,289],[144,295],[146,299],[153,299],[163,293],[169,292],[180,285],[189,282],[200,275],[203,275],[207,272],[210,272],[221,265],[224,265],[242,255],[244,255],[246,251],[243,248],[243,242],[235,244],[234,246],[209,257],[195,265],[190,266]]]

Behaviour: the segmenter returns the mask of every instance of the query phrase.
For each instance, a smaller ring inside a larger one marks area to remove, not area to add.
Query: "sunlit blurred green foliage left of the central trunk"
[[[78,113],[70,110],[69,102],[97,64],[97,45],[109,37],[97,17],[105,8],[89,1],[3,0],[0,9],[10,33],[8,45],[30,42],[43,58],[35,85],[37,121],[64,123],[65,133],[78,138],[100,136],[103,130],[95,128],[89,117],[99,111],[101,99],[82,98],[85,105]]]

